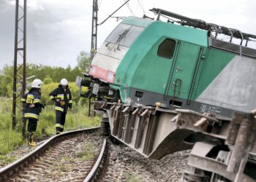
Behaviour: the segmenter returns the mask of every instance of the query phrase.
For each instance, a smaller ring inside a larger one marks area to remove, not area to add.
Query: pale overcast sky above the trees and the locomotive
[[[27,0],[27,62],[50,66],[76,66],[80,51],[91,48],[91,13],[93,0]],[[139,3],[140,2],[140,3]],[[99,0],[99,23],[124,0]],[[205,0],[130,0],[114,16],[144,14],[158,7],[209,23],[237,28],[256,34],[256,1]],[[130,11],[129,9],[132,9]],[[98,47],[120,23],[110,18],[98,29]],[[0,0],[0,68],[12,65],[15,33],[15,0]]]

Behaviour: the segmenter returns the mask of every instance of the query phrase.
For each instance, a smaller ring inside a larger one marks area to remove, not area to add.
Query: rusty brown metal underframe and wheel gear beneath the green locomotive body
[[[219,119],[186,109],[95,101],[111,135],[144,157],[161,159],[192,149],[183,181],[255,181],[256,122],[253,114]]]

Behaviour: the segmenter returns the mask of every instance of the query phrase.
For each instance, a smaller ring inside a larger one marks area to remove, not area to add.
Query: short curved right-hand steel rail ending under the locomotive
[[[102,144],[102,151],[100,151],[99,157],[95,162],[94,167],[92,167],[91,172],[86,176],[86,179],[83,182],[96,180],[97,175],[99,174],[99,170],[101,169],[102,166],[104,166],[107,153],[108,153],[108,145],[107,145],[107,139],[105,138]]]

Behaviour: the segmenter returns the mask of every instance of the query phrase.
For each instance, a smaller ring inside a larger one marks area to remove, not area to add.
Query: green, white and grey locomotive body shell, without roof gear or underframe
[[[97,52],[89,76],[118,90],[122,103],[231,117],[256,108],[255,58],[256,50],[206,30],[127,17]]]

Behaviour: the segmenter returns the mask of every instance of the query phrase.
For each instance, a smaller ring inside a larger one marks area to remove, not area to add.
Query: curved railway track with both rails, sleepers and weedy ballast
[[[108,153],[99,127],[55,135],[0,170],[0,181],[93,181]],[[102,142],[103,141],[103,142]]]

